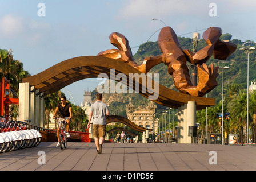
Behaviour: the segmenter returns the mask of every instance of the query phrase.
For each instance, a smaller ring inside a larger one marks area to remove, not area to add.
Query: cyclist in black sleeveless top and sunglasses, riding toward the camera
[[[67,124],[67,137],[70,137],[69,134],[69,127],[70,127],[70,122],[71,122],[71,117],[72,117],[72,109],[71,109],[71,105],[69,103],[67,103],[67,98],[65,96],[61,96],[61,103],[59,103],[55,109],[55,112],[53,114],[53,119],[55,119],[55,115],[59,114],[59,117],[61,118],[66,118],[69,117],[70,119],[66,120],[66,124]],[[58,127],[57,130],[57,137],[58,137],[58,143],[56,147],[59,147],[60,143],[59,143],[59,133],[60,133],[60,129]]]

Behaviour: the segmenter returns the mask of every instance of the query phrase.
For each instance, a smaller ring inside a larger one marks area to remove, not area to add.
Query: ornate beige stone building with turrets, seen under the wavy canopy
[[[149,105],[146,107],[136,107],[131,103],[131,98],[129,98],[129,104],[126,105],[127,118],[138,126],[144,127],[146,129],[153,129],[153,118],[155,115],[155,109],[157,106],[150,101]],[[154,121],[154,133],[158,129],[158,120]]]

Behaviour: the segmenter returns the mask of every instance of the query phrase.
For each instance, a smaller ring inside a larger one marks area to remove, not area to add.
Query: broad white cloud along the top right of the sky
[[[182,18],[194,16],[203,18],[209,16],[209,5],[215,3],[218,11],[222,10],[223,14],[237,12],[237,14],[246,13],[246,11],[255,11],[255,0],[130,0],[121,10],[119,10],[119,19],[133,18]]]

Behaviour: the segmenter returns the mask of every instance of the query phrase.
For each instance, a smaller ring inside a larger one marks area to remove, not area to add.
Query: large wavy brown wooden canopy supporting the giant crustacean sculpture
[[[30,86],[35,86],[35,89],[39,89],[40,92],[44,92],[47,95],[60,90],[75,81],[86,78],[97,78],[99,73],[106,73],[109,75],[110,69],[115,69],[115,76],[118,73],[124,73],[127,78],[129,77],[129,73],[142,74],[131,65],[123,63],[122,61],[102,56],[81,56],[55,64],[53,67],[50,67],[37,75],[24,78],[22,82],[29,82]],[[147,77],[147,79],[150,78]],[[147,85],[143,85],[142,81],[140,81],[139,84],[140,89],[143,86],[147,87]],[[154,80],[152,80],[152,84],[154,87]],[[154,95],[154,93],[151,94],[148,92],[139,94],[146,98]],[[153,101],[171,108],[178,108],[187,104],[188,101],[195,101],[197,103],[197,110],[215,105],[214,98],[190,96],[189,94],[176,92],[160,84],[159,96]]]

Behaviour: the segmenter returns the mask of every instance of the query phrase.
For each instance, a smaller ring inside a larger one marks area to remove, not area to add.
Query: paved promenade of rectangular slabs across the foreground
[[[256,170],[256,146],[104,143],[99,155],[94,143],[69,142],[64,150],[55,145],[41,142],[34,148],[2,153],[0,171]]]

